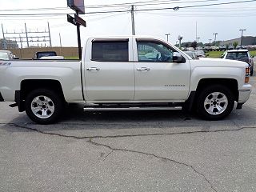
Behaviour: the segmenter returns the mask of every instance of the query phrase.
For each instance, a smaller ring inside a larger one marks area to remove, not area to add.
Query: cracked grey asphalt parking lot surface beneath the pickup
[[[255,191],[256,78],[242,110],[86,112],[42,126],[0,102],[0,191]]]

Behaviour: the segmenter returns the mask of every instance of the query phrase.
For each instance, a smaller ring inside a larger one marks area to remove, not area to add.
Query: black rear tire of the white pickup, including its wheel
[[[33,90],[26,97],[26,114],[39,124],[54,123],[60,118],[64,104],[62,97],[53,90]]]

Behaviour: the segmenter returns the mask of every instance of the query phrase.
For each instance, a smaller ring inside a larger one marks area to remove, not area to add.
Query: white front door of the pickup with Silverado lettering
[[[135,101],[184,101],[190,87],[190,62],[174,62],[179,54],[165,42],[137,39],[138,62],[134,64]],[[135,43],[134,43],[135,44]],[[136,58],[135,58],[136,59]]]

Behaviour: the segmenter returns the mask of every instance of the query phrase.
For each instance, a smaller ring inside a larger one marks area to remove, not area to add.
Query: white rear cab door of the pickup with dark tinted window
[[[86,100],[124,102],[134,99],[134,62],[129,38],[92,39],[86,57]],[[89,58],[89,59],[88,59]]]

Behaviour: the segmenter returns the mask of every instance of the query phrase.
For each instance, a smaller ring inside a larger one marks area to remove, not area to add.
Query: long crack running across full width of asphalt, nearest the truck
[[[130,138],[130,137],[148,137],[148,136],[164,136],[164,135],[178,135],[178,134],[200,134],[200,133],[218,133],[218,132],[231,132],[231,131],[239,131],[239,130],[246,130],[246,129],[250,129],[250,130],[256,130],[256,127],[250,127],[250,126],[242,126],[238,129],[234,129],[234,130],[229,130],[229,129],[225,129],[225,130],[194,130],[194,131],[183,131],[183,132],[178,132],[178,133],[166,133],[166,134],[118,134],[118,135],[106,135],[106,136],[102,136],[102,135],[94,135],[94,136],[75,136],[75,135],[66,135],[66,134],[57,134],[54,132],[46,132],[46,131],[42,131],[36,128],[31,128],[29,126],[22,126],[22,125],[18,125],[16,123],[0,123],[0,124],[5,124],[5,125],[10,125],[10,126],[15,126],[18,128],[22,128],[25,130],[33,130],[35,132],[38,132],[40,134],[48,134],[48,135],[55,135],[55,136],[59,136],[59,137],[64,137],[64,138],[75,138],[75,139],[86,139],[86,138]]]

